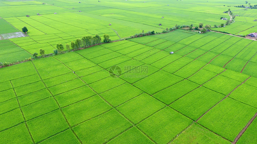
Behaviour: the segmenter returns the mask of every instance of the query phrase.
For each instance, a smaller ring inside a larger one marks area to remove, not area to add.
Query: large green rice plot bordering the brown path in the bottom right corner
[[[257,109],[253,107],[225,98],[200,118],[198,123],[227,140],[234,141],[256,112]]]

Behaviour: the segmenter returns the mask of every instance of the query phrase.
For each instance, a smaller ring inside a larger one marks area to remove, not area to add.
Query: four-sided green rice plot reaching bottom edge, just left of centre
[[[73,130],[83,143],[104,143],[131,126],[128,120],[112,109],[75,126]]]

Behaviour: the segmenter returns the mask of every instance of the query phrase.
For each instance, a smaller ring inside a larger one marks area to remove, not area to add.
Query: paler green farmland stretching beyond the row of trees
[[[45,3],[45,4],[42,4]],[[233,1],[233,5],[241,5],[241,1]],[[225,5],[225,7],[223,6]],[[85,35],[105,33],[110,35],[111,40],[129,37],[143,30],[161,32],[163,29],[178,25],[198,26],[199,23],[211,26],[225,23],[220,17],[229,17],[223,13],[230,6],[230,1],[78,1],[75,0],[38,0],[38,1],[4,1],[0,0],[0,23],[4,24],[5,30],[0,33],[11,33],[28,28],[29,37],[9,39],[14,44],[24,49],[13,51],[16,57],[8,56],[2,52],[2,60],[16,62],[31,57],[34,52],[44,49],[45,54],[53,53],[56,43],[70,44],[71,41]],[[238,7],[229,7],[235,14],[236,22],[225,28],[217,29],[235,34],[246,35],[256,32],[255,21],[252,21],[255,9],[241,10]],[[16,11],[13,11],[15,9]],[[81,11],[81,12],[79,12]],[[169,11],[169,13],[167,13]],[[243,12],[242,12],[243,11]],[[57,14],[54,14],[54,13]],[[237,13],[238,12],[238,13]],[[249,13],[246,14],[246,13]],[[39,15],[37,15],[39,13]],[[29,15],[30,17],[26,17]],[[197,16],[195,16],[197,15]],[[161,18],[164,17],[164,18]],[[242,18],[247,21],[241,20]],[[249,20],[248,20],[249,19]],[[109,26],[109,24],[112,24]],[[159,26],[162,24],[162,26]],[[215,28],[214,28],[215,29]],[[215,29],[216,30],[216,29]],[[1,42],[1,41],[0,41]],[[0,51],[2,48],[0,49]],[[12,59],[10,58],[12,57]]]

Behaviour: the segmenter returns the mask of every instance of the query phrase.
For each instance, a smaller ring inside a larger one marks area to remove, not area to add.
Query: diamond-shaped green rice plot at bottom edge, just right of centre
[[[189,118],[170,107],[165,107],[137,126],[156,143],[168,143],[190,123],[192,120]]]

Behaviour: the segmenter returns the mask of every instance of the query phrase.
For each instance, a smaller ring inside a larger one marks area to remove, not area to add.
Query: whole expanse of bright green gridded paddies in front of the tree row
[[[1,68],[1,141],[256,143],[254,45],[179,29]]]

